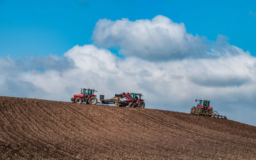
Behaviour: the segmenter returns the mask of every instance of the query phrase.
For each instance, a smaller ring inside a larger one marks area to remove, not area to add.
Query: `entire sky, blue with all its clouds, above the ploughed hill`
[[[255,1],[0,0],[0,95],[140,92],[185,113],[209,99],[256,125],[255,26]]]

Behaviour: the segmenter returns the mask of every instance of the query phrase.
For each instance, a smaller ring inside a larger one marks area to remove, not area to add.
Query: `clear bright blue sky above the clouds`
[[[188,33],[216,40],[218,34],[256,55],[255,1],[0,1],[0,56],[62,56],[74,45],[92,43],[99,19],[183,22]]]

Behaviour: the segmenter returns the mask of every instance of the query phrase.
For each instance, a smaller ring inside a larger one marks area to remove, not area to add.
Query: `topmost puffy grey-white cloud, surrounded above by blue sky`
[[[163,15],[134,22],[101,19],[92,38],[100,47],[120,47],[121,54],[145,60],[205,57],[207,49],[203,38],[187,33],[183,23],[177,24]]]

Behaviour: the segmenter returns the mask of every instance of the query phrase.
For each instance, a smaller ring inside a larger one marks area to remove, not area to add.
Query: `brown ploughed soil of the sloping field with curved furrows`
[[[173,111],[0,97],[0,126],[1,159],[256,157],[256,127]]]

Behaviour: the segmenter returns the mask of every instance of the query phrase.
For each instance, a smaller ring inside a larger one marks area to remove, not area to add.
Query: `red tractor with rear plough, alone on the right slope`
[[[210,106],[210,100],[196,99],[196,107],[193,106],[190,110],[192,115],[204,115],[204,116],[214,116],[217,118],[225,118],[226,116],[219,115],[217,111],[213,111],[213,108]]]

